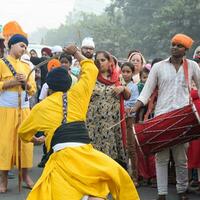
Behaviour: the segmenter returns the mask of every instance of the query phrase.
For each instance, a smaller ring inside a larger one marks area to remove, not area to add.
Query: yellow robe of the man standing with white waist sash
[[[17,73],[23,73],[28,75],[30,72],[30,67],[16,60],[11,56],[7,59],[13,65]],[[0,60],[0,97],[4,94],[2,89],[4,81],[13,79],[13,75],[5,63]],[[29,83],[31,84],[31,89],[29,94],[32,95],[36,91],[35,81],[30,77]],[[21,87],[13,87],[6,91],[18,92]],[[9,99],[13,101],[13,99]],[[21,110],[21,121],[23,121],[29,114],[29,108],[24,108]],[[10,170],[13,165],[18,165],[18,135],[17,128],[19,126],[19,110],[17,107],[4,107],[0,106],[0,170]],[[33,158],[33,144],[32,143],[21,143],[21,167],[30,168],[32,167]]]

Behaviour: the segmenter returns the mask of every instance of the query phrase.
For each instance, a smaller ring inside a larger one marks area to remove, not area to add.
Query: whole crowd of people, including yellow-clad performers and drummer
[[[157,187],[157,200],[165,200],[174,170],[180,200],[191,190],[200,194],[200,140],[144,155],[133,133],[134,124],[189,105],[190,96],[200,111],[200,47],[186,58],[192,38],[173,36],[167,59],[150,62],[136,49],[118,62],[96,50],[91,37],[80,49],[45,47],[38,57],[27,51],[20,31],[7,38],[0,60],[0,193],[7,192],[16,166],[32,189],[28,200],[137,200],[144,184]],[[28,174],[33,143],[43,144],[44,153],[35,184]]]

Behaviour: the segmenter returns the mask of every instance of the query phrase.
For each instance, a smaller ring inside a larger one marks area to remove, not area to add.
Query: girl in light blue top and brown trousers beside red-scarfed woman
[[[139,96],[137,84],[135,84],[132,79],[133,74],[135,72],[134,65],[130,62],[125,62],[121,66],[121,72],[127,87],[131,91],[130,99],[124,101],[125,110],[128,110],[135,104]],[[129,116],[129,118],[127,119],[127,146],[128,146],[129,159],[131,161],[132,179],[134,181],[135,186],[137,187],[138,186],[137,150],[136,150],[135,138],[132,134],[132,125],[134,120],[135,120],[134,115]]]

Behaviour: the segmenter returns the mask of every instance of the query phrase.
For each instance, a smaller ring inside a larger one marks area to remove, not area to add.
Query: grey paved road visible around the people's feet
[[[38,162],[41,158],[41,146],[36,146],[34,150],[34,167],[31,170],[30,174],[34,181],[37,180],[37,178],[40,176],[42,170],[37,167]],[[17,176],[17,171],[14,170],[14,173]],[[0,194],[0,200],[25,200],[26,196],[28,194],[29,190],[26,188],[22,188],[22,192],[18,192],[18,186],[17,186],[17,178],[9,180],[9,189],[6,194]],[[156,189],[153,189],[151,187],[140,187],[138,189],[138,192],[140,194],[141,200],[154,200],[157,194]],[[189,195],[190,200],[200,200],[200,195]],[[39,200],[39,199],[38,199]],[[176,190],[174,185],[170,185],[169,188],[169,196],[167,200],[178,200],[178,197],[176,195]]]

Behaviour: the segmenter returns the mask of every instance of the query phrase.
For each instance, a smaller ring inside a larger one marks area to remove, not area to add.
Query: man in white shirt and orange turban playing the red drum
[[[193,40],[184,34],[176,34],[171,40],[171,56],[166,60],[156,63],[150,71],[147,82],[138,101],[130,112],[136,112],[147,104],[148,100],[158,88],[158,98],[155,116],[167,113],[189,104],[189,90],[183,70],[183,58],[191,48]],[[198,90],[200,89],[200,68],[197,63],[187,59],[189,85],[192,80]],[[176,165],[176,189],[180,200],[188,200],[186,190],[188,187],[188,169],[186,145],[180,144],[171,147]],[[169,148],[156,154],[156,175],[158,184],[157,200],[165,200],[168,193],[168,162]]]

